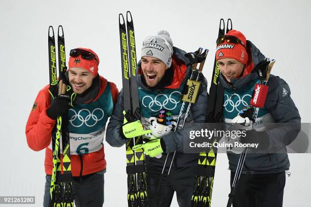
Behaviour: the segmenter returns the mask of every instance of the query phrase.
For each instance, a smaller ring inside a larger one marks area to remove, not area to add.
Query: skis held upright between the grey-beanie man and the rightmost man
[[[229,28],[230,26],[230,28]],[[231,19],[227,20],[226,33],[232,29]],[[225,21],[220,20],[218,38],[225,35]],[[208,107],[207,107],[207,123],[222,123],[223,101],[224,101],[224,87],[220,83],[220,70],[216,61],[214,60],[213,75],[211,79],[211,86],[209,89]],[[217,142],[215,139],[214,142]],[[196,176],[196,183],[194,186],[191,206],[192,207],[210,207],[211,196],[213,191],[213,182],[215,175],[217,148],[210,148],[209,151],[201,152],[198,159],[198,173]]]

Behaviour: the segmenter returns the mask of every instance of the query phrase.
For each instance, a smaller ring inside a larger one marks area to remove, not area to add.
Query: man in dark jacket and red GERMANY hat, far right
[[[255,68],[266,60],[259,49],[236,30],[217,40],[216,59],[222,74],[220,81],[225,87],[223,118],[231,123],[243,107],[250,105],[254,85],[259,83]],[[258,143],[259,148],[250,149],[248,152],[253,153],[246,155],[233,206],[283,204],[285,170],[290,166],[286,146],[300,131],[300,115],[283,79],[270,75],[267,85],[267,98],[264,108],[259,110],[255,127],[240,140]],[[232,185],[240,155],[232,152],[227,155]]]

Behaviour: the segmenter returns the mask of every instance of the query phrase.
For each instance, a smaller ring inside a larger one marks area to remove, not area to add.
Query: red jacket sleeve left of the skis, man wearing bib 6
[[[26,123],[26,139],[29,148],[40,151],[49,146],[56,120],[49,118],[46,110],[50,107],[48,86],[40,90]]]

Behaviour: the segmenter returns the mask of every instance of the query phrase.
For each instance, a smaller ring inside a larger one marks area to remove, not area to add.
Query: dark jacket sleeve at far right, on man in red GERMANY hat
[[[272,76],[268,81],[269,92],[265,107],[273,117],[275,128],[267,130],[270,146],[268,150],[279,149],[291,144],[301,129],[301,118],[294,101],[290,97],[288,84],[281,78]]]

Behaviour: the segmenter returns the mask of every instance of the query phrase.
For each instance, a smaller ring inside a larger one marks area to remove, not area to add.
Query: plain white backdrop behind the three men
[[[259,3],[261,2],[261,3]],[[100,57],[99,73],[121,89],[118,14],[130,10],[134,19],[137,55],[146,36],[170,32],[185,51],[208,48],[203,74],[211,79],[220,18],[231,18],[267,57],[275,58],[272,74],[291,87],[302,122],[311,122],[309,1],[1,1],[0,6],[0,196],[36,196],[42,206],[45,182],[44,151],[26,143],[25,124],[38,91],[48,81],[48,26],[64,26],[69,50],[86,47]],[[210,86],[210,84],[209,84]],[[127,206],[125,149],[105,142],[107,173],[104,206]],[[290,154],[284,206],[309,206],[310,154]],[[212,206],[225,206],[229,193],[228,160],[219,154]],[[0,206],[4,206],[1,205]],[[14,206],[14,205],[10,205]],[[17,205],[21,206],[21,205]],[[177,206],[176,199],[171,206]]]

